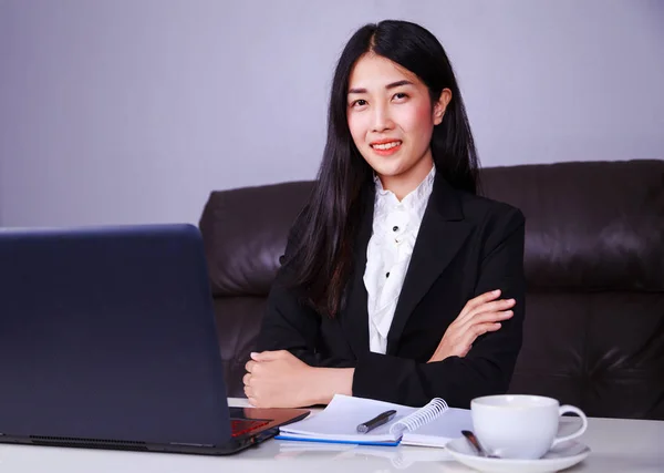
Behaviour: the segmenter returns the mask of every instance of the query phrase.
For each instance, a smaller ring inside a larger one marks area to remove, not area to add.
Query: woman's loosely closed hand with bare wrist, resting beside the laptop
[[[245,368],[245,394],[257,408],[301,408],[352,394],[353,369],[313,368],[287,350],[251,353]]]

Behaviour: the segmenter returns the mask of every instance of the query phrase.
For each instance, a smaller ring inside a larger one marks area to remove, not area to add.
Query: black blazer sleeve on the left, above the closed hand
[[[283,258],[294,249],[300,222],[295,222],[288,238]],[[321,316],[303,302],[303,294],[289,285],[292,268],[282,265],[268,295],[267,309],[258,335],[257,349],[288,350],[312,367],[352,368],[351,360],[323,358],[317,350]]]

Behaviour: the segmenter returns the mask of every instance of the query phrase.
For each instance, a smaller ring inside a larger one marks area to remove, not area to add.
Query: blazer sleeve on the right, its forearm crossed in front
[[[367,352],[357,360],[353,395],[408,405],[424,405],[439,397],[449,405],[469,408],[476,397],[507,392],[521,349],[526,310],[525,218],[520,210],[507,208],[495,212],[485,224],[475,295],[501,289],[501,298],[516,299],[512,318],[478,338],[465,358],[419,363]]]

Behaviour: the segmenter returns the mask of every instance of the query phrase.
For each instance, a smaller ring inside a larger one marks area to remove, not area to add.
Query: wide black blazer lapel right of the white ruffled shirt
[[[458,195],[440,174],[436,174],[387,335],[387,354],[395,354],[408,317],[468,238],[471,228],[464,222]]]

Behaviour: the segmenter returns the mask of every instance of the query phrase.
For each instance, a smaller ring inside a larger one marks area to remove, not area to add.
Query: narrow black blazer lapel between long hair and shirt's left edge
[[[366,267],[366,246],[373,229],[375,188],[373,182],[371,184],[363,194],[360,228],[353,246],[353,271],[347,288],[349,298],[341,315],[342,329],[355,358],[369,351],[369,296],[364,287],[364,269]]]

